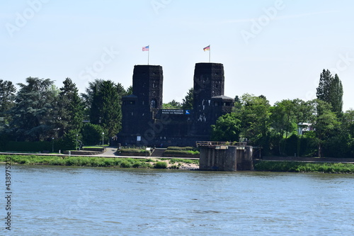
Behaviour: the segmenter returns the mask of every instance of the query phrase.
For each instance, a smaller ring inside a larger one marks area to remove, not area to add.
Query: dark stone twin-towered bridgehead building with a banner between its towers
[[[163,83],[161,66],[134,67],[132,95],[122,97],[122,145],[195,146],[210,140],[210,126],[234,106],[234,99],[224,96],[224,66],[219,63],[195,64],[193,109],[162,108]]]

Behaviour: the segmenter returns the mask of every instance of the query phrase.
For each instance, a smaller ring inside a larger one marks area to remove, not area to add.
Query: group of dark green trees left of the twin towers
[[[90,82],[84,94],[70,78],[59,89],[51,79],[25,81],[16,91],[12,82],[0,79],[0,147],[8,141],[55,140],[62,150],[72,150],[76,140],[107,141],[121,128],[122,96],[132,92],[103,79]]]

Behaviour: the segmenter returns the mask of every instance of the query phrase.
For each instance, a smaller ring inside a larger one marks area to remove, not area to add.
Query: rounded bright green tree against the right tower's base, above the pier
[[[227,113],[217,119],[217,123],[212,125],[212,140],[219,142],[236,141],[239,142],[241,133],[241,120],[236,113]]]

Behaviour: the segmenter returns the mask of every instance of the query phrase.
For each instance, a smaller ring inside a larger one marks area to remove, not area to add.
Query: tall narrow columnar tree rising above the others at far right
[[[342,113],[343,86],[337,74],[333,77],[328,69],[324,69],[320,75],[316,95],[317,99],[331,104],[331,111],[337,115]]]

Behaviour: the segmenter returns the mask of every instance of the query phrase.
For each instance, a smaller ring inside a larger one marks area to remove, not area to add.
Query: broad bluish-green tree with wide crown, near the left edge
[[[41,141],[53,137],[53,102],[56,91],[50,79],[28,77],[18,84],[16,105],[9,110],[11,129],[17,140]]]

